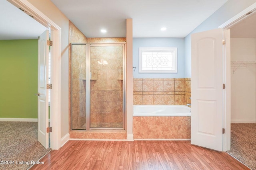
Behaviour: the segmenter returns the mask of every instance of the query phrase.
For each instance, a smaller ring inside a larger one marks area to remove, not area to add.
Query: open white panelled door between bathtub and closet
[[[222,151],[222,29],[191,35],[191,144]]]

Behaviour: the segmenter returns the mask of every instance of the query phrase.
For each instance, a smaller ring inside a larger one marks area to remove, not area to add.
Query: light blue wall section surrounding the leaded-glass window
[[[133,78],[185,78],[184,38],[133,38]],[[139,73],[140,47],[177,47],[177,73]]]

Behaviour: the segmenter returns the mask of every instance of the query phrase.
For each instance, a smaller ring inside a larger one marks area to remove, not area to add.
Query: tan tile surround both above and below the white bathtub
[[[191,104],[191,78],[134,78],[134,105]],[[190,116],[135,116],[134,139],[190,139]]]

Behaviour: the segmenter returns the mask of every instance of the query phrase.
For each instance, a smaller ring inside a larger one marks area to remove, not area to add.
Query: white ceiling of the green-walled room
[[[37,39],[46,27],[10,4],[0,0],[0,40]]]

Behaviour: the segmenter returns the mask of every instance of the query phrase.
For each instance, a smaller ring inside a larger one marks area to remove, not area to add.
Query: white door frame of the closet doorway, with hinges
[[[250,13],[252,12],[252,13]],[[246,19],[250,14],[254,14],[256,12],[256,3],[252,4],[242,12],[238,13],[236,16],[230,18],[230,20],[224,22],[218,28],[222,28],[224,31],[224,37],[230,37],[230,34],[227,34],[225,30],[232,28],[234,25],[239,23],[240,21]],[[250,13],[250,14],[249,14]],[[230,38],[229,38],[230,39]],[[224,80],[223,82],[226,84],[226,98],[224,98],[224,111],[223,111],[223,125],[225,128],[225,134],[223,134],[223,151],[230,150],[230,134],[231,134],[231,66],[230,66],[230,41],[225,42],[224,49]]]

